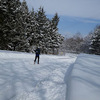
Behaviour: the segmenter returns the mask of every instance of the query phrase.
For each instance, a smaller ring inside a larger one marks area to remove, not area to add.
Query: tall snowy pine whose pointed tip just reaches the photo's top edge
[[[15,37],[12,40],[14,50],[16,51],[27,51],[28,52],[28,32],[30,27],[29,22],[29,11],[26,1],[23,0],[20,6],[16,8],[15,17]]]

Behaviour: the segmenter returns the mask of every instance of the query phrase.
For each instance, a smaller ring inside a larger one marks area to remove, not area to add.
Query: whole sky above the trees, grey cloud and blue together
[[[23,1],[23,0],[21,0]],[[74,35],[80,32],[86,36],[100,25],[100,0],[26,0],[29,9],[44,8],[48,18],[58,13],[59,33]]]

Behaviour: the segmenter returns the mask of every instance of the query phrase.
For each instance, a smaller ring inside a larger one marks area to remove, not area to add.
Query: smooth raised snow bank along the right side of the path
[[[100,100],[100,56],[80,54],[65,81],[66,100]]]

